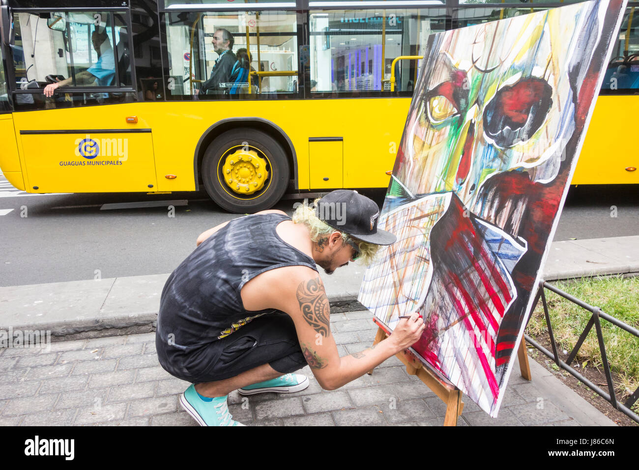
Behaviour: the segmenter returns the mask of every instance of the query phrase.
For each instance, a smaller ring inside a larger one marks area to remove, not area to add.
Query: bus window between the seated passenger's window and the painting
[[[392,62],[420,56],[431,33],[445,30],[445,9],[340,10],[310,13],[311,80],[317,93],[390,91]],[[396,91],[412,94],[416,60],[396,62]],[[405,94],[405,93],[404,93]],[[311,95],[312,96],[312,95]]]

